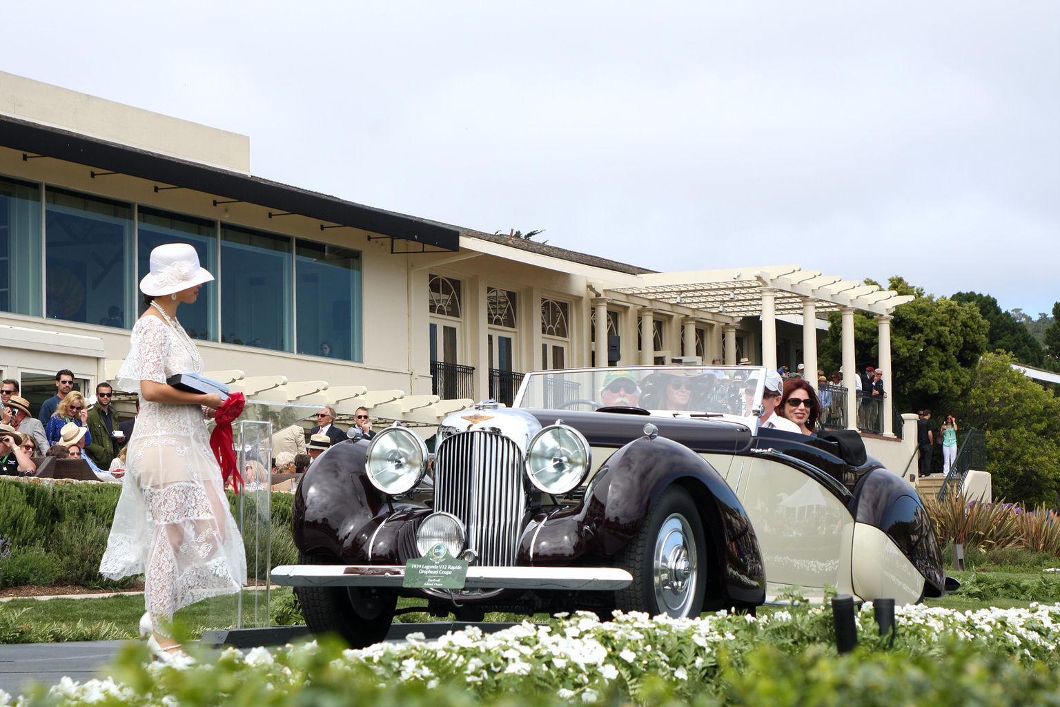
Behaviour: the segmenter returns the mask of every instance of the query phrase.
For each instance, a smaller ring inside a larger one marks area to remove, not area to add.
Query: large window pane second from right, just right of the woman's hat
[[[220,340],[292,351],[292,240],[222,227]]]

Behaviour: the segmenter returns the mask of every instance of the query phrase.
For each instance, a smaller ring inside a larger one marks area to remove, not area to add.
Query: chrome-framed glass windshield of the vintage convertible
[[[644,366],[538,371],[527,375],[514,407],[749,416],[762,402],[765,369],[750,366]]]

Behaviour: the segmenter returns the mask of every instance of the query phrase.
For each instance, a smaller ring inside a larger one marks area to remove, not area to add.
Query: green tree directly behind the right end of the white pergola
[[[867,284],[877,284],[865,280]],[[898,306],[890,322],[889,391],[895,409],[908,412],[922,407],[941,409],[959,400],[971,382],[972,369],[987,346],[989,324],[974,304],[936,299],[923,288],[893,277],[888,289],[916,299]],[[828,336],[820,359],[837,370],[843,357],[843,324],[838,313],[829,315]],[[879,359],[876,318],[854,313],[854,351],[858,368]],[[886,365],[886,364],[884,364]]]

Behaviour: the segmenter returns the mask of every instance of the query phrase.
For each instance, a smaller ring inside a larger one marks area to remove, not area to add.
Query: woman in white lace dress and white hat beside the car
[[[202,357],[176,315],[211,280],[192,246],[155,248],[151,273],[140,282],[149,305],[132,328],[131,350],[118,373],[120,390],[140,393],[140,414],[100,572],[111,579],[144,575],[141,625],[149,617],[148,643],[161,658],[180,648],[166,631],[174,612],[236,593],[247,577],[243,538],[204,420],[220,396],[165,384],[177,373],[202,372]]]

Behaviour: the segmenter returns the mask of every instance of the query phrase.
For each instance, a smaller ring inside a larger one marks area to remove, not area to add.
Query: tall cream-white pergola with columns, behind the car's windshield
[[[758,316],[762,323],[762,364],[777,367],[777,316],[802,317],[802,348],[806,370],[817,370],[816,319],[818,313],[841,312],[843,315],[843,385],[847,388],[847,409],[856,410],[856,389],[853,376],[858,375],[854,361],[854,311],[861,310],[876,316],[879,325],[879,365],[883,368],[884,390],[890,387],[890,319],[895,307],[912,301],[911,295],[883,290],[877,285],[865,285],[840,276],[823,275],[820,270],[803,270],[798,265],[776,265],[723,270],[689,272],[652,272],[639,276],[640,284],[621,285],[604,289],[603,297],[594,300],[595,307],[606,310],[607,293],[622,294],[646,301],[639,311],[642,331],[651,331],[653,302],[699,310],[721,321],[725,336],[726,365],[735,365],[737,321],[742,317]],[[597,321],[602,321],[597,312]],[[647,322],[646,322],[647,320]],[[695,354],[695,318],[683,320],[684,355]],[[600,339],[597,337],[597,344]],[[650,365],[654,352],[646,347],[641,351],[641,365]],[[597,360],[605,360],[602,352]],[[814,383],[816,383],[814,381]],[[883,432],[893,436],[891,400],[883,401]],[[858,428],[856,416],[847,416],[847,425]]]

